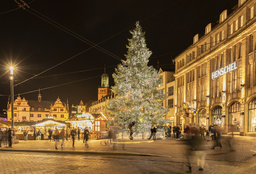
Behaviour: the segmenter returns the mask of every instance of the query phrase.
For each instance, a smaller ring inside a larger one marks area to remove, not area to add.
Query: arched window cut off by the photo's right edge
[[[256,98],[251,100],[248,107],[248,132],[256,132]]]

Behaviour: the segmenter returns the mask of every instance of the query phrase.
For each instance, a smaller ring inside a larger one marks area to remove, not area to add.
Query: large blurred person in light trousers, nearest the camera
[[[197,128],[196,128],[197,129]],[[191,130],[192,132],[192,130]],[[198,134],[198,130],[195,131],[195,136],[188,140],[188,170],[186,172],[191,173],[193,163],[193,159],[197,159],[197,165],[199,166],[199,170],[202,171],[204,168],[204,157],[205,153],[202,150],[202,141],[200,141],[200,136]]]

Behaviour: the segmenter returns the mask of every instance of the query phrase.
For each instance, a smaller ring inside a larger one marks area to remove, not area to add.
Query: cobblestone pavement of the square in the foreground
[[[228,144],[229,139],[223,135],[223,147],[211,149],[213,142],[203,141],[205,156],[204,171],[199,171],[196,159],[194,159],[194,173],[256,173],[256,156],[252,156],[256,150],[254,137],[234,136],[231,144],[235,151],[231,151]],[[168,138],[156,140],[151,143],[119,143],[116,150],[110,145],[105,145],[103,140],[89,141],[89,148],[86,148],[82,141],[75,141],[75,148],[71,141],[65,141],[65,148],[60,148],[58,142],[56,151],[63,151],[63,154],[44,153],[14,153],[0,151],[0,164],[6,164],[0,168],[0,173],[9,173],[15,166],[14,173],[78,173],[89,171],[91,173],[184,173],[187,170],[186,141]],[[102,143],[102,144],[100,144]],[[2,144],[3,145],[3,144]],[[1,150],[9,149],[2,147]],[[55,150],[55,142],[45,141],[20,141],[10,149],[34,149],[34,150]],[[72,155],[65,154],[65,151],[105,151],[151,154],[166,157],[145,157],[145,156],[97,156],[97,155]],[[88,159],[93,158],[93,159]],[[6,162],[6,161],[13,162]],[[25,163],[24,163],[25,161]],[[61,162],[60,162],[61,161]],[[51,165],[49,165],[51,164]],[[79,168],[80,167],[80,168]]]

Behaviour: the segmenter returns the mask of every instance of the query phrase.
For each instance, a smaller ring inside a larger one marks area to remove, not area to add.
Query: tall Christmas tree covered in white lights
[[[113,74],[115,86],[112,92],[117,97],[107,105],[110,117],[113,117],[108,126],[128,132],[128,124],[136,120],[134,132],[142,133],[148,132],[152,125],[161,127],[167,123],[163,117],[168,110],[162,106],[167,96],[163,90],[157,90],[162,77],[152,66],[147,67],[152,52],[146,48],[145,33],[139,23],[130,32],[133,38],[128,39],[126,60],[122,60]]]

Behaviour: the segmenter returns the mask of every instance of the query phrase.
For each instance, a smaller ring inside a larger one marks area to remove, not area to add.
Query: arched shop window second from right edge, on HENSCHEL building
[[[241,124],[243,123],[243,117],[240,115],[241,103],[235,102],[228,108],[228,121],[232,127],[233,132],[240,132]]]

